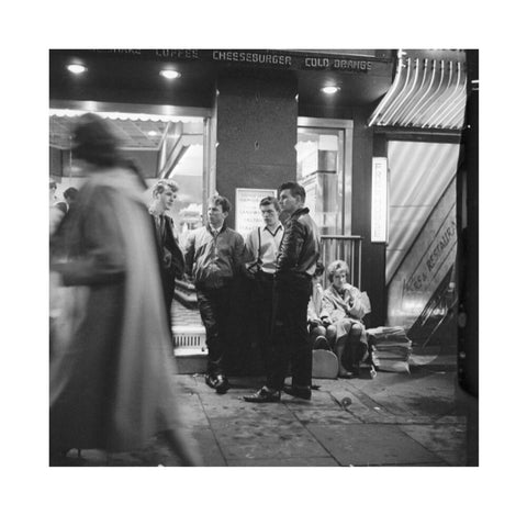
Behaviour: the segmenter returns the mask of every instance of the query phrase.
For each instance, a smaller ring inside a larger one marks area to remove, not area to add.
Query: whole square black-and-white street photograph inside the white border
[[[478,65],[51,49],[49,464],[478,466]]]

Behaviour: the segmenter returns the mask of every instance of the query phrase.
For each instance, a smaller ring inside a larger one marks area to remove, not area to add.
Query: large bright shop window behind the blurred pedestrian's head
[[[210,194],[209,152],[210,119],[203,110],[192,115],[190,109],[170,110],[175,114],[160,112],[160,108],[124,104],[98,104],[90,109],[90,102],[58,103],[49,111],[49,177],[57,182],[56,200],[63,200],[63,192],[69,187],[80,188],[86,175],[79,163],[71,156],[70,133],[76,120],[85,112],[96,112],[106,119],[120,137],[121,149],[126,158],[133,159],[148,189],[144,193],[145,204],[152,202],[152,190],[160,178],[175,180],[179,186],[178,198],[168,213],[175,221],[176,233],[181,247],[191,229],[203,224],[204,199]],[[165,107],[166,108],[166,107]],[[205,115],[204,115],[205,114]],[[176,327],[177,326],[177,327]],[[179,327],[179,328],[178,328]],[[197,334],[190,344],[201,347],[202,324],[198,312],[195,291],[187,281],[178,281],[172,303],[172,329],[177,340],[181,327],[190,327]],[[195,340],[195,342],[194,342]],[[176,342],[178,344],[178,342]],[[194,345],[195,344],[195,345]]]

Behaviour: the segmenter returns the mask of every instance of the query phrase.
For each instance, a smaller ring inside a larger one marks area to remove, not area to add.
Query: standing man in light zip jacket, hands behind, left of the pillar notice
[[[233,281],[243,270],[244,238],[227,227],[231,202],[209,199],[208,224],[192,231],[184,247],[187,273],[193,278],[209,349],[205,382],[217,393],[228,390],[225,355],[228,344]]]

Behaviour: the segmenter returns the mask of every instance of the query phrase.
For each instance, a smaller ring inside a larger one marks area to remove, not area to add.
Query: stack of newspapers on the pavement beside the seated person
[[[367,329],[373,365],[385,372],[408,372],[412,342],[403,327]]]

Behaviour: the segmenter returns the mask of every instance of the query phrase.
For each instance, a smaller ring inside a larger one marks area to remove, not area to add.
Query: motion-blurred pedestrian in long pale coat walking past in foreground
[[[70,448],[123,451],[162,436],[186,466],[155,236],[137,178],[111,127],[85,114],[74,157],[88,180],[65,219],[64,260],[52,268],[68,301],[51,362],[51,459]],[[57,243],[59,245],[59,243]]]

